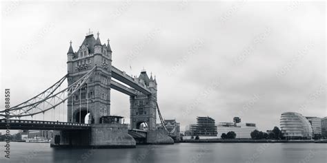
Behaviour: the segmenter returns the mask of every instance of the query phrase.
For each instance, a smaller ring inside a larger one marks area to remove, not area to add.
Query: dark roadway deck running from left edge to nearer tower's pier
[[[0,120],[0,129],[33,129],[33,130],[88,130],[90,124],[79,124],[71,122],[53,122],[41,120]]]

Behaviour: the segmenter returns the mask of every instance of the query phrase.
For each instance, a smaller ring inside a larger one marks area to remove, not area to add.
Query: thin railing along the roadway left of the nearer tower
[[[72,123],[72,122],[54,122],[41,120],[0,120],[0,123],[18,123],[18,124],[56,124],[65,126],[90,127],[90,124]]]

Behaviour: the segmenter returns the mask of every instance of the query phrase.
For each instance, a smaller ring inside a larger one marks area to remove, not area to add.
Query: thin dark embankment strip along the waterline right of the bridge
[[[222,140],[222,139],[200,139],[200,140],[181,140],[183,142],[193,143],[327,143],[327,140]]]

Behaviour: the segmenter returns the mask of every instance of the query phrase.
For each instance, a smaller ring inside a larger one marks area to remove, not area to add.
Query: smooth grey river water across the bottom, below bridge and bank
[[[138,145],[136,149],[52,149],[48,143],[10,142],[10,159],[0,162],[221,162],[326,163],[327,144],[317,143],[179,143]]]

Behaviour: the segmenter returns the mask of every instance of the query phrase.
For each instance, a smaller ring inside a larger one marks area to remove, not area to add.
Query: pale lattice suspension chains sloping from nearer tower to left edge
[[[88,73],[86,73],[83,77],[79,78],[79,80],[77,80],[75,83],[72,83],[72,85],[56,93],[55,91],[63,83],[63,80],[68,77],[67,75],[64,76],[57,83],[54,83],[54,85],[46,89],[46,91],[42,91],[41,94],[38,94],[37,96],[34,96],[33,98],[30,98],[29,100],[26,100],[25,102],[22,102],[19,105],[11,107],[9,109],[8,118],[21,118],[26,116],[31,116],[33,118],[33,116],[39,113],[45,113],[50,109],[53,109],[54,113],[54,109],[56,109],[57,106],[68,100],[68,98],[72,97],[72,95],[75,94],[77,90],[79,90],[81,87],[83,87],[83,85],[86,84],[86,81],[88,80],[88,78],[90,78],[92,73],[95,72],[95,69],[96,67],[93,67]],[[43,104],[43,108],[40,107],[41,104]],[[17,113],[17,111],[19,112]],[[0,119],[1,117],[3,119],[6,118],[5,112],[6,109],[0,111]]]

